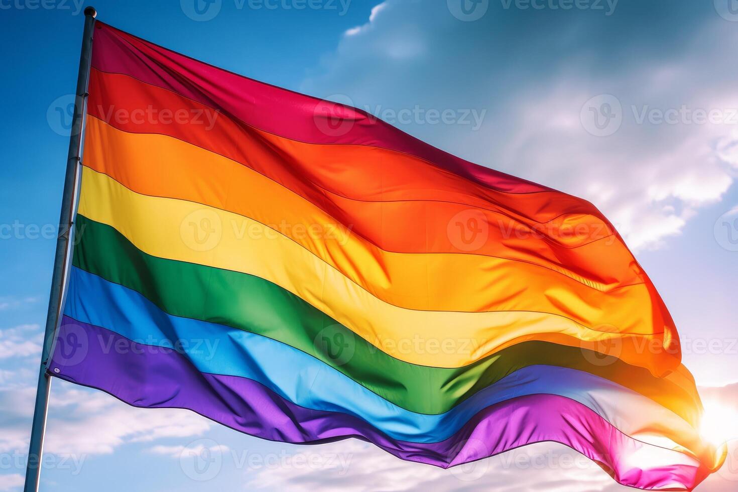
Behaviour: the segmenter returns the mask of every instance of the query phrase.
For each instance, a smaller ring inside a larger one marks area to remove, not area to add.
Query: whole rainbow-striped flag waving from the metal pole
[[[356,108],[97,22],[75,228],[49,373],[131,405],[444,468],[555,441],[652,490],[723,460],[592,204]]]

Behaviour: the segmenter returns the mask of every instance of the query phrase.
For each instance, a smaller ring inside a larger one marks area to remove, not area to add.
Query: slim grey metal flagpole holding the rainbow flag
[[[61,196],[61,214],[59,216],[59,233],[54,254],[54,271],[49,294],[49,311],[46,313],[46,330],[44,347],[41,352],[41,367],[38,370],[38,388],[33,410],[31,440],[28,446],[26,464],[25,492],[37,492],[41,476],[41,454],[44,450],[44,432],[46,432],[46,410],[49,406],[49,390],[51,378],[46,373],[46,364],[51,356],[54,335],[59,324],[61,305],[64,299],[66,271],[69,260],[69,242],[72,235],[72,224],[77,203],[77,181],[80,167],[80,150],[87,103],[87,86],[89,83],[90,61],[92,58],[92,30],[97,11],[93,7],[85,9],[85,27],[82,34],[82,52],[80,68],[77,72],[77,91],[75,93],[75,112],[72,116],[72,134],[69,136],[69,153],[66,159],[64,189]]]

